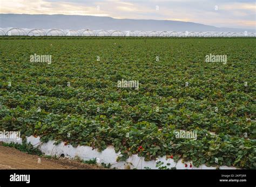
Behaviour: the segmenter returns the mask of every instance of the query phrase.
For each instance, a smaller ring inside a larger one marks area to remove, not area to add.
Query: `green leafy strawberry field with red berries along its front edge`
[[[0,131],[113,145],[118,161],[255,169],[255,51],[254,38],[1,39]],[[51,62],[31,62],[34,54]],[[210,54],[227,62],[206,62]]]

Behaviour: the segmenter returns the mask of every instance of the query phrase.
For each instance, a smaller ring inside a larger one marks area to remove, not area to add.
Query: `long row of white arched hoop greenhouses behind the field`
[[[0,35],[74,36],[74,37],[255,37],[250,32],[176,32],[176,31],[116,31],[116,30],[61,30],[58,28],[0,28]]]

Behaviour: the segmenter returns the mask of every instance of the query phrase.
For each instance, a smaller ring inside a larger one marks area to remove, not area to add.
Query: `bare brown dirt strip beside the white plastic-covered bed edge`
[[[41,162],[38,162],[38,158]],[[104,169],[70,159],[48,159],[0,145],[0,169]]]

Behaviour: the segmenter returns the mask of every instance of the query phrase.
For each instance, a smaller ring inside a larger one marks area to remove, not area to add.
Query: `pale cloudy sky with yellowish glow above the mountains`
[[[191,21],[256,29],[255,0],[0,0],[0,13]]]

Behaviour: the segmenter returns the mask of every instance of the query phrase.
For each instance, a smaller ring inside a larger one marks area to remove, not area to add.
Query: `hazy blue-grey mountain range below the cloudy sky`
[[[114,19],[99,16],[0,14],[0,27],[60,28],[80,30],[122,31],[216,31],[255,32],[253,29],[215,27],[210,25],[171,20]]]

